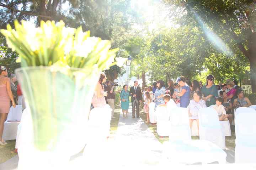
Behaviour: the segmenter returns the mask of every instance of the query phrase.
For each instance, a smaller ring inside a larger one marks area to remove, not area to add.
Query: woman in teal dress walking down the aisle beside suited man
[[[127,118],[129,102],[130,102],[128,85],[123,86],[123,90],[121,91],[120,98],[121,98],[121,108],[123,112],[123,118],[124,118],[124,111],[126,112],[126,118]]]

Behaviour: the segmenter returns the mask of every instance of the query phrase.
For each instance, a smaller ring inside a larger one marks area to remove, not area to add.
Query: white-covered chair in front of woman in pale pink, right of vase
[[[111,111],[112,109],[108,104],[105,107],[91,110],[88,120],[88,140],[107,139],[107,136],[110,135]]]

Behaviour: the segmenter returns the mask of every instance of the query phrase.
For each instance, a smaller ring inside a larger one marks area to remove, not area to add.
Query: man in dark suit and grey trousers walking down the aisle
[[[135,118],[135,106],[136,106],[136,116],[139,118],[139,104],[142,102],[142,92],[140,87],[138,87],[138,81],[134,81],[134,86],[130,87],[130,96],[132,96],[132,118]]]

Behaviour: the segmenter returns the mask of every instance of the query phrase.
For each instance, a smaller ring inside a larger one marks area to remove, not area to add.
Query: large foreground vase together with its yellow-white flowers
[[[41,21],[40,27],[15,21],[15,29],[7,25],[0,32],[19,55],[21,68],[15,72],[33,121],[34,146],[21,146],[19,168],[39,162],[44,162],[39,169],[64,167],[85,146],[95,85],[100,72],[116,64],[118,49],[110,50],[110,41],[90,37],[81,27],[66,28],[63,21]]]

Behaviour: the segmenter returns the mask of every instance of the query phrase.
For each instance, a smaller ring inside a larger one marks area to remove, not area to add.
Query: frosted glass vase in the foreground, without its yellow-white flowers
[[[18,168],[65,168],[70,156],[86,145],[86,126],[100,71],[23,67],[15,73],[33,124],[32,145],[19,148]]]

